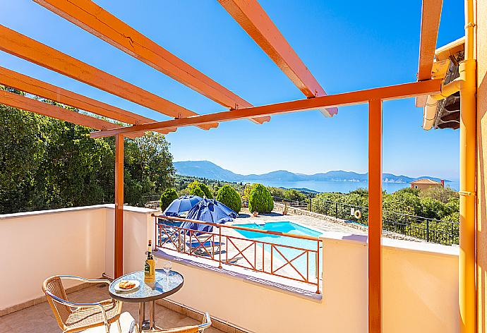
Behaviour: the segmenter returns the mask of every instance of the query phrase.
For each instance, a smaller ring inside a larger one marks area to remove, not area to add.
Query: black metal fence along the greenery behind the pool
[[[278,197],[273,198],[275,202],[285,203],[289,207],[301,208],[344,219],[350,223],[368,226],[368,207],[318,199],[298,201]],[[459,242],[458,222],[429,219],[428,217],[419,217],[402,212],[383,210],[383,229],[420,238],[431,243],[451,245]]]

